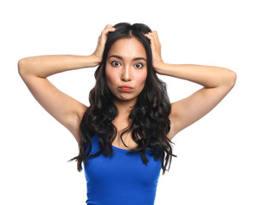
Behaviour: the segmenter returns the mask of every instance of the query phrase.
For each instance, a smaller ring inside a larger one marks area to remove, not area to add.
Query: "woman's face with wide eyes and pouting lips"
[[[136,38],[112,44],[106,59],[106,83],[114,101],[136,102],[146,82],[146,50]]]

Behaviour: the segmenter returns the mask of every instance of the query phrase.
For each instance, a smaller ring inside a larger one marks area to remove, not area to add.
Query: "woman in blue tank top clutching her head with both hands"
[[[90,106],[47,79],[54,73],[95,67]],[[84,162],[88,204],[153,204],[158,177],[170,168],[170,141],[209,113],[235,85],[223,67],[173,65],[161,57],[158,33],[143,24],[107,25],[91,56],[34,56],[18,63],[38,102],[74,135]],[[156,73],[203,85],[169,102]],[[169,164],[169,168],[167,165]]]

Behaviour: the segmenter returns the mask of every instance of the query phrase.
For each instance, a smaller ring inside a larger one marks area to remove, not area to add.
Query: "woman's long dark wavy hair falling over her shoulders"
[[[112,124],[116,118],[117,108],[112,102],[110,92],[105,78],[105,64],[111,45],[120,38],[136,38],[143,44],[146,50],[147,77],[143,91],[137,97],[128,118],[130,125],[122,132],[122,135],[132,132],[132,138],[137,148],[130,149],[128,153],[140,152],[144,164],[148,162],[145,150],[150,150],[154,159],[161,159],[163,174],[170,169],[172,156],[172,142],[167,138],[170,132],[171,112],[170,101],[166,91],[165,83],[158,79],[157,73],[152,67],[152,50],[150,40],[144,33],[151,32],[145,24],[118,23],[115,32],[110,32],[105,44],[103,60],[95,71],[96,84],[89,94],[90,106],[80,122],[80,153],[70,161],[77,161],[77,169],[82,170],[81,163],[89,164],[87,159],[97,157],[102,153],[107,156],[113,155],[112,142],[116,138],[117,130]],[[98,134],[100,150],[90,155],[92,150],[92,136]],[[122,143],[124,144],[123,140]],[[126,144],[124,144],[128,147]],[[167,169],[167,166],[169,167]]]

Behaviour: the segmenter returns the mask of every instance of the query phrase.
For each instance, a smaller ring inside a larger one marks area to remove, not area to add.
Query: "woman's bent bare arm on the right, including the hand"
[[[236,74],[224,67],[164,63],[158,33],[151,32],[146,34],[146,37],[151,40],[153,67],[159,74],[203,85],[202,89],[191,96],[172,103],[170,113],[172,129],[168,136],[171,139],[177,132],[190,126],[215,108],[235,85]]]

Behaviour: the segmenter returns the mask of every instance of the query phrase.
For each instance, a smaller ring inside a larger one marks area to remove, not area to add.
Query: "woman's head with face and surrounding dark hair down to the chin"
[[[144,24],[128,23],[119,23],[114,27],[116,31],[108,34],[103,60],[95,72],[96,84],[111,96],[123,100],[135,99],[144,88],[150,88],[148,82],[152,81],[152,75],[156,76],[152,67],[150,41],[144,35],[151,32],[151,29]],[[116,80],[116,85],[113,84],[113,79]],[[132,87],[132,90],[125,87],[122,89],[122,85]]]

